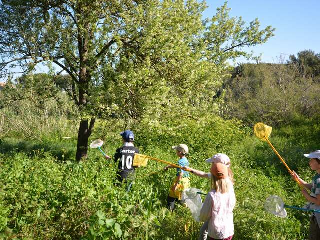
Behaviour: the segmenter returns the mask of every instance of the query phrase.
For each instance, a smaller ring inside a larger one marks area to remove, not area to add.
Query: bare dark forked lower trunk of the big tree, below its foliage
[[[89,120],[80,121],[80,127],[78,131],[78,142],[76,148],[76,157],[77,161],[85,160],[88,156],[88,139],[92,133],[92,128],[95,123],[95,119],[91,119],[90,126],[88,124]]]

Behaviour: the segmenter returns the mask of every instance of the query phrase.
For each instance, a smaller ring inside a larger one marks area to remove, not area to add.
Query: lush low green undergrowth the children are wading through
[[[190,146],[191,166],[203,171],[209,170],[204,159],[216,152],[227,153],[235,176],[237,239],[305,239],[307,214],[287,210],[288,218],[282,219],[263,209],[269,195],[279,195],[288,205],[303,206],[304,200],[271,148],[252,136],[250,128],[239,121],[213,116],[198,122],[172,121],[171,127],[171,134],[163,134],[156,127],[135,125],[135,144],[144,154],[175,162],[171,146],[186,143]],[[317,130],[311,133],[307,130],[310,127]],[[109,129],[105,135],[103,147],[109,154],[120,145],[118,128],[114,125],[115,130]],[[319,125],[305,121],[298,129],[294,126],[274,129],[270,140],[289,166],[310,181],[314,173],[302,152],[316,146]],[[303,129],[313,137],[303,141]],[[100,133],[94,134],[92,137]],[[201,224],[194,222],[187,208],[178,206],[173,213],[165,208],[174,170],[163,172],[162,163],[149,160],[147,167],[137,169],[135,183],[126,192],[125,186],[114,185],[114,163],[106,162],[96,149],[89,150],[87,161],[76,163],[75,141],[65,142],[64,145],[55,139],[47,140],[38,145],[46,151],[36,150],[34,144],[30,149],[32,154],[26,154],[23,147],[16,147],[22,146],[21,141],[2,140],[0,149],[5,154],[0,157],[3,186],[0,230],[3,238],[197,239]],[[196,176],[192,176],[191,186],[209,190],[208,181]]]

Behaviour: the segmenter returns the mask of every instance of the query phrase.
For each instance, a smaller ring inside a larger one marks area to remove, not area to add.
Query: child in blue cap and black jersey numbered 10
[[[114,162],[119,161],[117,179],[123,182],[130,174],[134,173],[133,158],[135,153],[139,153],[139,149],[133,144],[134,134],[130,130],[125,130],[120,133],[122,136],[123,145],[116,149],[114,154]],[[105,156],[106,159],[111,159],[110,156]]]

